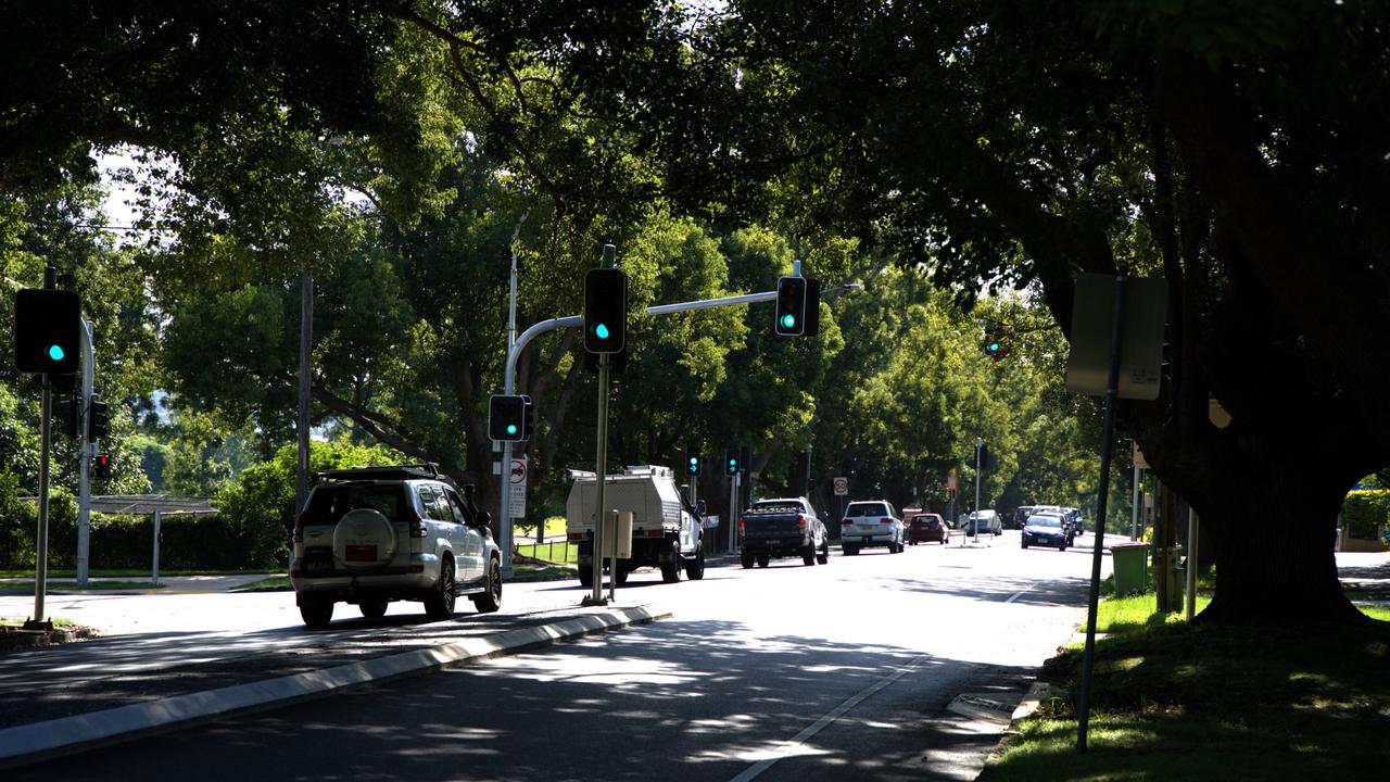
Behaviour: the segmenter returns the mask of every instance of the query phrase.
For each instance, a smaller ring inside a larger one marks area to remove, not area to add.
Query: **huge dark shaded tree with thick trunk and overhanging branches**
[[[634,75],[655,45],[570,72],[594,111],[682,141],[652,145],[682,203],[735,202],[746,191],[728,179],[746,188],[759,168],[820,184],[751,206],[892,248],[963,299],[981,280],[1037,282],[1063,331],[1077,273],[1163,276],[1168,383],[1127,416],[1213,533],[1204,619],[1351,619],[1333,519],[1390,462],[1390,342],[1361,338],[1390,316],[1373,217],[1390,193],[1387,14],[746,0],[624,32],[662,43],[694,28],[678,74]],[[730,156],[726,177],[692,186],[698,161]],[[1229,429],[1208,422],[1208,398]],[[1307,544],[1309,527],[1327,532]]]

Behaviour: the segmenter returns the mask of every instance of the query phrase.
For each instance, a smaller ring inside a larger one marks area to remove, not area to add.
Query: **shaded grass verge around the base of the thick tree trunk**
[[[981,781],[1384,778],[1390,611],[1309,632],[1188,625],[1152,604],[1101,604],[1087,753],[1081,651],[1069,648],[1040,676],[1062,694],[1015,722]]]

